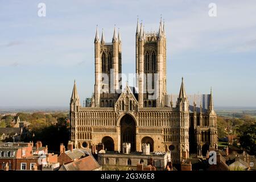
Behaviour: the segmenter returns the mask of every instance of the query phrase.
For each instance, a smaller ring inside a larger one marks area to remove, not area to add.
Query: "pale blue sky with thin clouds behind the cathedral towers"
[[[39,3],[46,16],[38,16]],[[216,16],[209,16],[209,4]],[[256,1],[0,0],[0,107],[69,106],[94,85],[96,25],[122,39],[122,71],[135,72],[137,18],[167,37],[167,92],[213,90],[215,106],[256,106]]]

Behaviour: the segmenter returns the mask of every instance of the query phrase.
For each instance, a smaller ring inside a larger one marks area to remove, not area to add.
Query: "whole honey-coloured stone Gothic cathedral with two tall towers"
[[[76,148],[141,152],[170,152],[174,163],[189,154],[205,156],[217,150],[217,116],[210,94],[189,96],[182,78],[179,94],[166,90],[166,30],[162,19],[158,32],[146,32],[137,22],[135,33],[135,86],[122,83],[122,40],[114,28],[112,42],[94,39],[95,84],[89,107],[80,105],[76,82],[70,102],[71,140]]]

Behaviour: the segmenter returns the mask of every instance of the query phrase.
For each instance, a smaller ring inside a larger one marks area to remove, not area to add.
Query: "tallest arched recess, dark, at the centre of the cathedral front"
[[[136,150],[136,124],[129,114],[122,117],[121,127],[121,148],[123,143],[131,143],[131,151]]]

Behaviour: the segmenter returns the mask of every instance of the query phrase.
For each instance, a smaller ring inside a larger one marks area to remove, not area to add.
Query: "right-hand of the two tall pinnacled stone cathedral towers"
[[[162,18],[158,32],[145,32],[137,21],[136,73],[139,107],[164,107],[166,95],[166,32]]]

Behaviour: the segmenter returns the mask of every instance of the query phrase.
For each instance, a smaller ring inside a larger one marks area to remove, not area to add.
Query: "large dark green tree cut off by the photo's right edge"
[[[245,123],[238,130],[241,146],[251,155],[256,155],[256,123]]]

